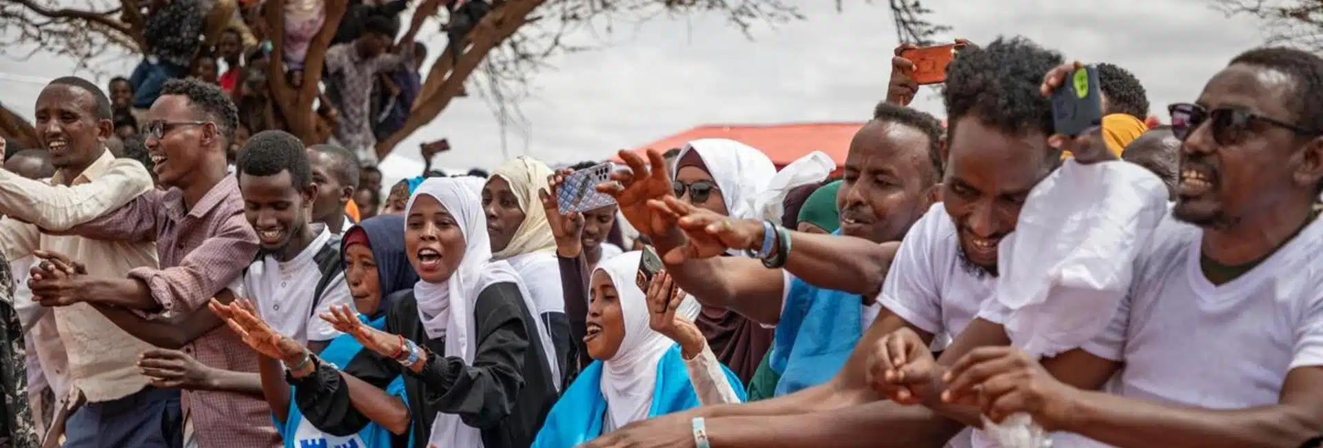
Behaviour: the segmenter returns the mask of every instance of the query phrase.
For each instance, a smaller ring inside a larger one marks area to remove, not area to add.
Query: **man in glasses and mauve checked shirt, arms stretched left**
[[[200,308],[222,289],[237,289],[239,275],[258,250],[257,234],[243,218],[238,181],[226,174],[225,149],[237,126],[234,103],[218,86],[194,79],[167,82],[148,111],[144,135],[160,182],[169,190],[149,190],[67,230],[107,241],[155,241],[161,268],[136,268],[127,276],[73,274],[34,280],[33,295],[44,305],[93,303],[114,316],[120,328],[134,332],[143,325],[124,320],[128,311],[148,321],[188,320],[197,312],[208,313]],[[151,182],[151,177],[143,172],[140,181]],[[93,258],[81,262],[89,267],[102,264]],[[193,334],[184,352],[209,367],[257,371],[257,354],[226,328]],[[185,445],[279,445],[269,408],[259,399],[185,390],[183,407]]]

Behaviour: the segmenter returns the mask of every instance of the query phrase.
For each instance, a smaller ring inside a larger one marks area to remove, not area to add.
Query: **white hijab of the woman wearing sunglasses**
[[[767,189],[777,165],[758,148],[729,139],[701,139],[689,141],[680,149],[671,178],[680,172],[680,160],[691,151],[697,152],[712,180],[726,201],[728,215],[737,219],[758,219],[758,194]]]

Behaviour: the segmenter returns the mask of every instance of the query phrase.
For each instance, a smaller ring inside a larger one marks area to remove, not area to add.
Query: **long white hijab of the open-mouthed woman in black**
[[[474,303],[478,295],[487,287],[496,283],[513,283],[519,287],[519,293],[524,299],[524,307],[533,313],[532,295],[524,287],[524,281],[515,272],[515,268],[505,262],[491,260],[491,242],[487,239],[487,218],[483,214],[482,200],[464,182],[450,177],[433,177],[425,180],[409,205],[405,206],[405,217],[413,209],[414,201],[419,196],[431,196],[446,207],[459,225],[464,235],[464,258],[459,267],[442,283],[418,280],[414,285],[414,297],[418,299],[418,320],[429,338],[446,337],[446,357],[458,357],[466,363],[472,363],[478,352],[478,328],[474,322]],[[446,254],[448,255],[448,254]],[[560,390],[560,367],[556,363],[556,349],[552,346],[552,337],[542,325],[541,318],[533,318],[537,325],[537,342],[542,345],[546,355],[546,366],[550,369],[552,379]],[[528,362],[528,359],[525,359]],[[431,437],[429,444],[435,447],[474,447],[482,448],[482,433],[478,428],[470,427],[459,420],[455,414],[437,414],[431,423]]]

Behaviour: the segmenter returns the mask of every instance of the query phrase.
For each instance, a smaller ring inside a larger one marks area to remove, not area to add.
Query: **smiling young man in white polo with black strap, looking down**
[[[312,151],[286,149],[246,152],[237,165],[243,214],[262,244],[243,272],[243,291],[271,328],[319,350],[339,334],[319,315],[352,297],[340,238],[308,222],[319,188],[308,161]]]

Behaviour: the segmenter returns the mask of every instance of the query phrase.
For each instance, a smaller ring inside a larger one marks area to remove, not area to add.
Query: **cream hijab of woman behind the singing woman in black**
[[[552,176],[552,169],[546,164],[527,156],[515,157],[492,173],[492,177],[504,178],[509,184],[509,190],[519,201],[519,209],[524,210],[524,222],[519,223],[509,244],[492,254],[495,259],[504,260],[529,252],[556,251],[556,237],[552,235],[552,226],[546,222],[546,211],[542,209],[541,198],[537,197],[538,190],[550,190],[546,184],[548,176]]]

